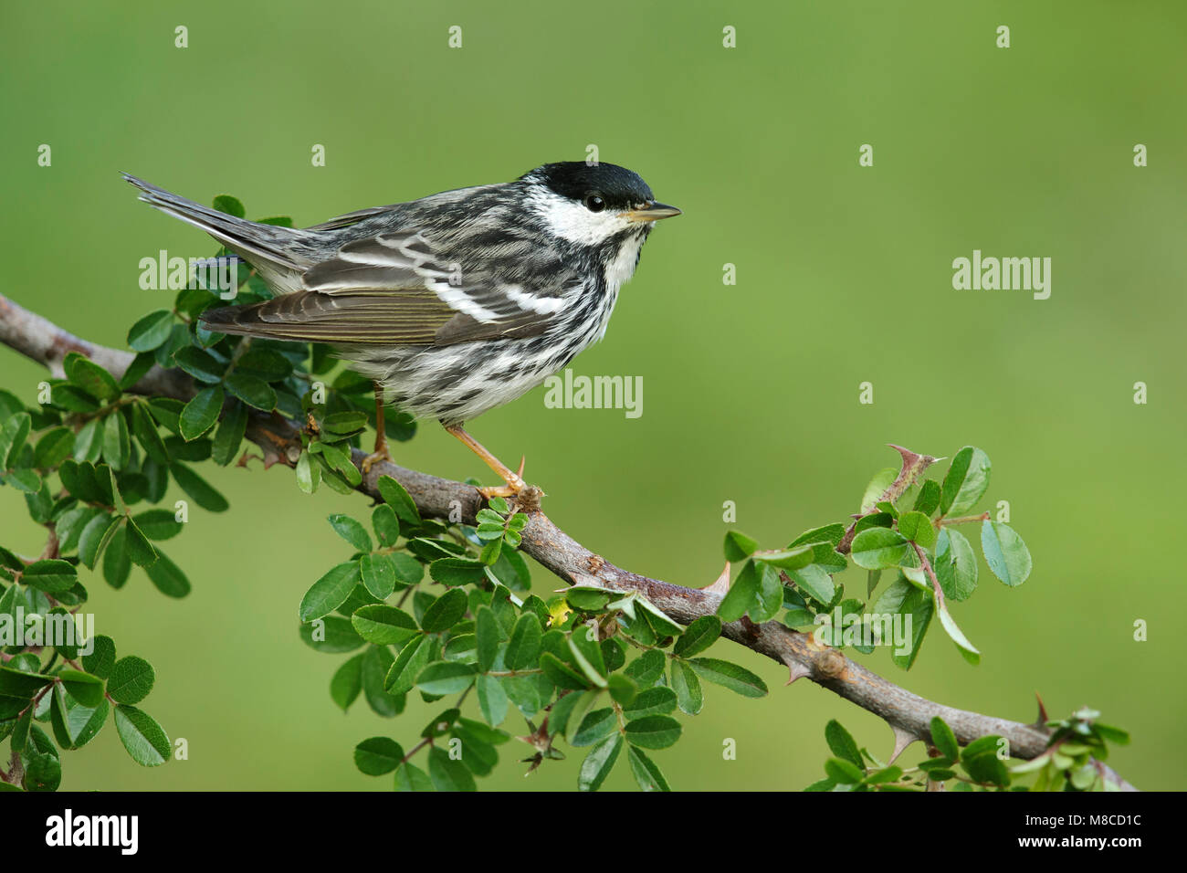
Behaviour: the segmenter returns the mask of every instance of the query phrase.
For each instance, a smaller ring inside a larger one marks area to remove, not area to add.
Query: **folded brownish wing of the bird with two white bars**
[[[544,271],[572,287],[559,262]],[[558,274],[559,271],[559,274]],[[418,232],[389,232],[342,246],[301,277],[305,290],[249,306],[209,310],[212,330],[337,344],[450,346],[472,340],[535,336],[564,298],[463,271],[434,253]]]

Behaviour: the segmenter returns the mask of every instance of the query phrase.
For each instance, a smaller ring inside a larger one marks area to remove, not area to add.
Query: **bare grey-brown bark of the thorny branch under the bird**
[[[129,352],[121,352],[82,340],[63,330],[42,316],[31,312],[0,295],[0,343],[26,358],[44,365],[56,375],[62,375],[62,360],[70,352],[87,355],[103,366],[116,378],[132,362]],[[179,369],[163,369],[153,366],[132,388],[133,392],[189,400],[196,393],[190,377]],[[253,413],[247,437],[264,453],[265,463],[293,466],[300,456],[299,428],[279,413]],[[894,499],[921,474],[935,458],[916,455],[894,447],[903,456],[902,472],[888,487],[884,499]],[[361,466],[366,453],[355,449],[354,461]],[[464,524],[474,524],[475,515],[483,506],[482,495],[462,482],[440,479],[393,463],[377,463],[363,475],[357,491],[381,500],[376,482],[380,476],[392,476],[412,495],[421,515],[447,519],[451,511],[459,510]],[[573,581],[601,584],[624,592],[640,592],[668,616],[687,625],[702,615],[717,612],[728,580],[705,589],[684,588],[660,580],[641,576],[615,567],[602,556],[575,540],[539,510],[523,506],[528,524],[522,531],[522,550],[566,583]],[[457,518],[457,514],[453,514]],[[852,542],[851,526],[838,549],[846,551]],[[792,631],[777,621],[756,625],[749,619],[726,624],[722,635],[788,668],[788,684],[808,678],[827,688],[849,702],[883,719],[893,729],[894,754],[897,757],[910,742],[931,742],[931,720],[940,716],[946,721],[960,745],[980,736],[997,734],[1010,744],[1015,758],[1033,759],[1047,748],[1047,733],[1040,721],[1036,725],[997,719],[965,709],[934,703],[889,682],[861,664],[850,660],[836,649],[818,644],[811,634]],[[1123,790],[1136,789],[1110,767],[1104,767],[1105,778]]]

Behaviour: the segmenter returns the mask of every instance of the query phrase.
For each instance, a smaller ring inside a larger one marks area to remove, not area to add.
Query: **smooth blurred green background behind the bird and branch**
[[[982,568],[954,615],[983,651],[967,665],[938,627],[903,673],[952,706],[1030,720],[1092,704],[1129,728],[1111,763],[1141,787],[1181,785],[1187,702],[1170,619],[1187,491],[1181,363],[1187,97],[1181,4],[336,2],[8,5],[0,33],[0,292],[91,340],[167,305],[138,261],[211,241],[140,204],[127,170],[199,201],[310,224],[361,207],[510,179],[550,160],[639,171],[685,215],[648,242],[603,343],[578,374],[643,378],[643,415],[548,410],[544,390],[472,432],[527,455],[548,513],[620,565],[699,587],[722,565],[722,505],[779,546],[856,511],[894,442],[994,461],[988,506],[1009,500],[1034,555],[1009,590]],[[1011,29],[1013,46],[995,46]],[[189,48],[173,45],[189,27]],[[446,45],[463,29],[463,48]],[[737,29],[737,48],[722,29]],[[52,166],[37,165],[39,144]],[[858,166],[874,146],[875,165]],[[1132,164],[1137,143],[1149,166]],[[326,166],[313,167],[322,144]],[[954,291],[951,262],[1053,259],[1050,299]],[[724,286],[723,265],[737,266]],[[167,295],[167,299],[166,296]],[[0,349],[26,401],[43,377]],[[875,404],[858,404],[869,380]],[[1150,403],[1132,401],[1135,381]],[[487,476],[434,424],[398,460]],[[326,514],[357,499],[298,492],[291,473],[203,468],[231,501],[195,510],[170,544],[193,593],[135,574],[89,580],[99,631],[148,657],[144,707],[190,760],[141,770],[108,726],[70,753],[66,789],[386,789],[355,771],[363,738],[414,738],[417,702],[385,722],[328,695],[338,656],[297,635],[297,603],[345,557]],[[23,501],[0,494],[6,545],[36,553]],[[850,571],[853,588],[864,577]],[[559,587],[542,570],[541,594]],[[1135,643],[1134,621],[1150,621]],[[799,789],[819,778],[824,725],[876,753],[889,729],[731,644],[761,701],[710,687],[685,740],[656,759],[680,789]],[[519,727],[508,721],[506,727]],[[722,760],[723,738],[737,760]],[[916,746],[915,751],[919,751]],[[504,746],[504,761],[527,747]],[[1159,764],[1159,761],[1163,761]],[[573,789],[579,753],[531,778]],[[608,787],[631,785],[620,766]]]

